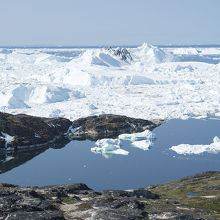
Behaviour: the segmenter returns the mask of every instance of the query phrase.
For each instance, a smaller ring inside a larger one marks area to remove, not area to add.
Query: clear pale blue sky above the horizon
[[[0,46],[220,44],[220,0],[0,0]]]

